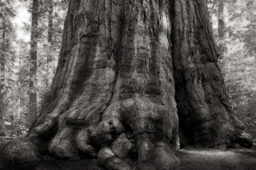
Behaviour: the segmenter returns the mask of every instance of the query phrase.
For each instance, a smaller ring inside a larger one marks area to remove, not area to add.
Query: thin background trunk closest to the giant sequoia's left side
[[[50,85],[51,78],[50,78],[50,63],[52,61],[52,33],[53,33],[53,26],[52,26],[52,11],[53,11],[53,1],[49,0],[49,16],[48,16],[48,43],[50,45],[48,54],[47,54],[47,77],[46,77],[46,87]]]

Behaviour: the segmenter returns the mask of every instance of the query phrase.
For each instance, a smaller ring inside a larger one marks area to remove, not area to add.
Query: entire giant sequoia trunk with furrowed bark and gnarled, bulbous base
[[[236,127],[217,57],[206,0],[72,0],[43,114],[2,158],[168,170],[179,119],[183,144],[227,146]]]

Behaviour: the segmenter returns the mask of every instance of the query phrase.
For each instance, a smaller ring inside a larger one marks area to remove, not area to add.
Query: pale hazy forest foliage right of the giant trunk
[[[247,126],[256,121],[256,1],[209,0],[208,8],[219,47],[219,65],[233,111]],[[222,13],[220,13],[222,11]],[[221,37],[218,28],[223,21]]]

